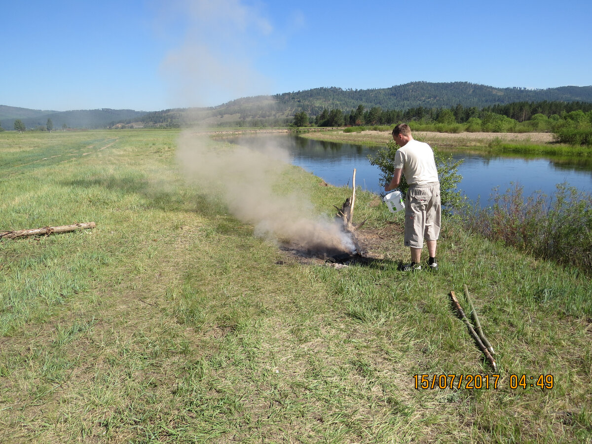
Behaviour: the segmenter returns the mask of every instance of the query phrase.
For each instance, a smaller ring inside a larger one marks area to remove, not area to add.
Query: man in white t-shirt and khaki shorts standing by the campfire
[[[392,130],[392,139],[400,146],[395,153],[394,174],[385,191],[397,188],[401,173],[405,175],[409,189],[405,197],[405,246],[411,249],[411,263],[400,267],[401,271],[422,269],[423,240],[426,240],[429,259],[427,266],[436,271],[436,244],[440,236],[440,182],[432,147],[414,140],[411,128],[405,123]]]

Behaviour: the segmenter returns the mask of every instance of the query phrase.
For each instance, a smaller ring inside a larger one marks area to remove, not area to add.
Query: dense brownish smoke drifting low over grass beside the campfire
[[[317,254],[353,252],[355,245],[342,223],[315,213],[310,200],[298,190],[279,191],[288,153],[265,144],[259,149],[227,144],[213,145],[195,131],[179,138],[179,163],[188,178],[223,198],[229,211],[255,225],[255,234],[279,242],[295,243]],[[285,188],[285,186],[284,186]]]

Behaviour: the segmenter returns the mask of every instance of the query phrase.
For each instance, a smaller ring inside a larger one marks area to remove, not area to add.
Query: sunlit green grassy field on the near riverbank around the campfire
[[[187,184],[178,134],[0,134],[1,230],[97,225],[0,241],[1,442],[592,442],[588,277],[451,224],[440,272],[402,275],[400,216],[363,192],[382,259],[304,265]],[[279,188],[319,213],[350,194],[319,184],[290,167]],[[491,374],[462,284],[497,388],[416,390]]]

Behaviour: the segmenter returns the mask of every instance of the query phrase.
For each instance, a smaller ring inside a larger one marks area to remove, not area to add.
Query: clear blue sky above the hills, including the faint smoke
[[[592,85],[592,4],[2,2],[0,105],[158,111],[407,82]]]

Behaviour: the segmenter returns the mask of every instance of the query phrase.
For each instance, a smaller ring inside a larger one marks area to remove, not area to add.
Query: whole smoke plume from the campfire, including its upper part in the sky
[[[262,12],[240,0],[173,0],[167,8],[169,18],[170,11],[176,11],[172,22],[185,30],[177,49],[163,62],[179,99],[199,107],[211,104],[213,97],[229,100],[269,93],[265,89],[271,81],[255,69],[255,62],[276,45],[278,35]],[[269,97],[262,102],[269,107]],[[215,104],[221,103],[219,99]],[[285,150],[263,142],[258,149],[221,145],[213,148],[198,131],[184,131],[179,138],[179,163],[202,191],[223,198],[237,218],[255,225],[260,236],[317,252],[353,251],[339,224],[311,217],[313,205],[298,190],[279,194],[281,173],[289,163]]]

